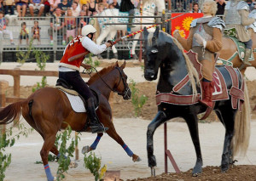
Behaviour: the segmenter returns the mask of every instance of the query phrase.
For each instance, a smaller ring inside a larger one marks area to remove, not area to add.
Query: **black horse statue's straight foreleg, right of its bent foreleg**
[[[193,168],[192,174],[193,176],[197,176],[199,173],[202,172],[202,158],[201,158],[201,147],[199,141],[199,134],[198,134],[198,122],[197,116],[194,114],[186,115],[183,117],[188,124],[189,133],[193,144],[195,146],[195,154],[196,154],[196,162],[195,167]]]

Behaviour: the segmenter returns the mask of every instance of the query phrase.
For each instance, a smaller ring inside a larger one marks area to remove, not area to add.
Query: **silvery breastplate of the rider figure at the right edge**
[[[227,13],[225,14],[225,24],[236,24],[241,25],[241,15],[238,13],[238,9],[236,8],[236,2],[230,2],[230,8],[225,9]]]

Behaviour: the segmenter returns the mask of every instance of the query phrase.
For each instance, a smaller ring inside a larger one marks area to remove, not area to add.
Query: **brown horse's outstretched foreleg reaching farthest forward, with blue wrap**
[[[132,161],[141,161],[140,157],[137,156],[136,154],[134,154],[130,148],[125,144],[125,142],[123,141],[123,139],[121,139],[121,137],[119,136],[118,133],[116,133],[115,128],[113,127],[113,124],[108,127],[108,131],[107,131],[108,135],[114,139],[117,143],[119,143],[123,149],[125,150],[126,154],[130,157],[132,157]]]

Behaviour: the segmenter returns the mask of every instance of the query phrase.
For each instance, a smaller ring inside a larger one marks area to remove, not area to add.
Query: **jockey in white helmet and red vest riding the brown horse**
[[[112,43],[105,42],[105,44],[96,45],[96,43],[93,42],[96,29],[92,25],[84,25],[81,34],[81,36],[75,37],[67,44],[59,64],[59,78],[64,79],[68,84],[73,86],[73,89],[86,101],[86,110],[90,119],[91,132],[103,133],[108,130],[108,127],[103,127],[99,122],[96,116],[93,94],[79,73],[80,66],[84,67],[84,69],[90,69],[90,65],[83,63],[84,56],[73,61],[68,61],[68,59],[74,55],[82,54],[85,51],[89,51],[92,54],[101,54],[108,47],[111,47]]]

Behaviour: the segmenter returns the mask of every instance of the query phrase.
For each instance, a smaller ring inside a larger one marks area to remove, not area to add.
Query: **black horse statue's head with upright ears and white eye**
[[[144,77],[147,81],[153,81],[157,78],[158,70],[160,67],[161,60],[165,53],[160,48],[158,43],[159,27],[153,33],[149,33],[147,28],[144,28]]]

